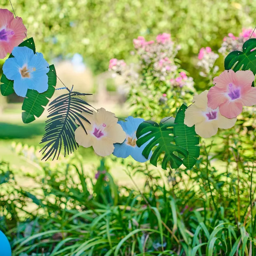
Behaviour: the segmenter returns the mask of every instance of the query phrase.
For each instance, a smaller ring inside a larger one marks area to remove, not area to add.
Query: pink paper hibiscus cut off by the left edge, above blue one
[[[4,59],[13,47],[23,42],[26,32],[27,28],[20,17],[14,19],[12,12],[0,9],[0,59]]]

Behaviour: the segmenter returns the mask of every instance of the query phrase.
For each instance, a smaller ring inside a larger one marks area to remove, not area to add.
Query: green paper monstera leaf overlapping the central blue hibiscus
[[[174,136],[171,135],[173,134],[174,120],[173,117],[169,119],[165,117],[161,120],[160,124],[157,124],[154,121],[143,122],[139,125],[136,132],[136,137],[138,138],[136,144],[138,147],[150,140],[148,145],[142,151],[142,155],[147,159],[152,148],[157,146],[150,158],[149,162],[151,164],[157,166],[158,157],[162,152],[165,153],[162,162],[162,168],[164,170],[167,170],[166,167],[169,161],[170,166],[173,169],[179,168],[182,164],[182,160],[173,154],[173,152],[180,153],[183,157],[188,156],[187,149],[174,144]]]

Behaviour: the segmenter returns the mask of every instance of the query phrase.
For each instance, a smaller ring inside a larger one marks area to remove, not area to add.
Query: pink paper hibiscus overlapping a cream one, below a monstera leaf
[[[230,69],[213,78],[215,84],[207,95],[209,108],[220,108],[220,114],[234,118],[241,114],[243,106],[256,104],[256,88],[252,87],[254,75],[250,70]]]

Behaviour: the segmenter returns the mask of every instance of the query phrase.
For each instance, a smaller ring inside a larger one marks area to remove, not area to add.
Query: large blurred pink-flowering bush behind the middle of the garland
[[[172,41],[170,34],[157,35],[156,42],[138,36],[133,45],[135,51],[131,54],[137,56],[137,65],[124,65],[123,60],[109,61],[113,76],[124,77],[127,102],[134,106],[133,116],[160,120],[184,101],[191,101],[194,81],[180,68],[180,60],[175,58],[180,45]]]

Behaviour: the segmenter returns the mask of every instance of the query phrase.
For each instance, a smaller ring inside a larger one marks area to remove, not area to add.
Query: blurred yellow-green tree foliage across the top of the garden
[[[256,11],[250,0],[12,0],[12,5],[48,61],[79,52],[95,73],[105,71],[111,58],[126,60],[133,38],[151,40],[166,32],[181,44],[178,58],[194,75],[191,57],[207,45],[217,51],[229,32],[254,27]],[[0,8],[12,10],[9,0]]]

